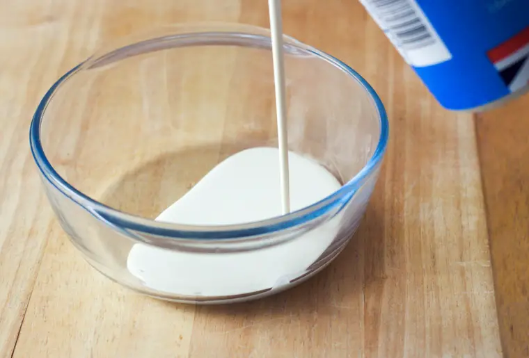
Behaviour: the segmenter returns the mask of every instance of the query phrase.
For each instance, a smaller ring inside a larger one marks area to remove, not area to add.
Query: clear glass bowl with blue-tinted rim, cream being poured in
[[[182,24],[121,39],[49,89],[31,150],[63,229],[93,267],[156,298],[235,302],[293,286],[340,253],[377,180],[386,113],[340,60],[287,36],[284,49],[289,149],[343,186],[259,222],[153,218],[224,158],[277,146],[267,30]],[[150,267],[130,266],[135,247],[154,255]]]

